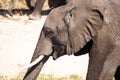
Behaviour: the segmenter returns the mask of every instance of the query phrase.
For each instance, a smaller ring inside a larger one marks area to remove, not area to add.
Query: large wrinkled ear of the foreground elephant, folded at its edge
[[[68,29],[67,54],[78,52],[97,35],[103,26],[103,14],[99,9],[77,7],[65,16]]]

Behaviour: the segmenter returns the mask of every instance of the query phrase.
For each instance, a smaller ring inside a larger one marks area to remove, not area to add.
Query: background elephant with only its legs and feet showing
[[[11,0],[8,8],[9,14],[12,16],[12,9],[14,7],[16,0]],[[31,20],[39,20],[41,18],[42,7],[46,0],[25,0],[28,8],[32,11],[29,15],[29,19]],[[36,2],[35,2],[36,1]],[[48,4],[50,8],[56,8],[61,5],[65,5],[67,3],[66,0],[48,0]]]

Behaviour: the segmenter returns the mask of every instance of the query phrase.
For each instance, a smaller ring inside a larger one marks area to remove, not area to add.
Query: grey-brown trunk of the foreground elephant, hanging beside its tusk
[[[31,64],[35,63],[35,65],[27,70],[23,80],[35,80],[39,75],[39,72],[41,71],[44,63],[51,56],[52,51],[51,41],[49,39],[45,39],[44,35],[41,34],[31,60]],[[41,55],[44,55],[42,60],[39,58]]]

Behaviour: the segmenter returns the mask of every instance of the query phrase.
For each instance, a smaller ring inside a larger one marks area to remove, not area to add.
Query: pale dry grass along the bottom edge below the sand
[[[8,79],[5,76],[0,76],[0,80],[22,80],[24,74],[25,74],[25,72],[21,72],[16,77],[10,78],[10,79]],[[40,74],[38,76],[37,80],[84,80],[84,79],[78,75],[75,75],[75,74],[71,74],[71,75],[65,76],[65,77],[55,77],[52,74],[51,75]]]

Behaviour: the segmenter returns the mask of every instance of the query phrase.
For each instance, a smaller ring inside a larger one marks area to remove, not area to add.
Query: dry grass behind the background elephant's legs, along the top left
[[[29,11],[29,8],[27,7],[25,0],[15,0],[13,8],[14,16],[10,16],[7,11],[9,9],[10,1],[11,0],[0,0],[0,19],[6,16],[10,20],[16,20],[18,19],[18,16],[26,16],[31,13],[31,11]],[[46,0],[42,10],[48,9],[48,1]],[[5,16],[2,16],[3,14]]]

